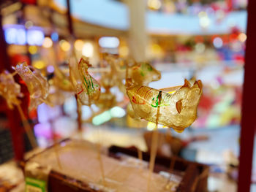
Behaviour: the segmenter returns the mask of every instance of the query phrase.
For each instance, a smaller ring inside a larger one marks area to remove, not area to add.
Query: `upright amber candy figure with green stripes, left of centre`
[[[78,96],[79,101],[85,105],[91,105],[95,103],[99,99],[100,96],[100,86],[97,80],[88,72],[89,67],[88,58],[81,58],[78,63],[78,72],[79,74],[75,75],[75,72],[72,72],[71,69],[71,78],[72,82],[76,87],[76,94]]]

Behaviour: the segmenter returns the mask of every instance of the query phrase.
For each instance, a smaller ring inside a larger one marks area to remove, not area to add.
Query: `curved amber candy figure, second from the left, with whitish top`
[[[45,101],[48,96],[49,85],[45,77],[36,69],[32,72],[29,66],[24,62],[15,66],[21,79],[26,83],[30,93],[29,110],[37,107]]]

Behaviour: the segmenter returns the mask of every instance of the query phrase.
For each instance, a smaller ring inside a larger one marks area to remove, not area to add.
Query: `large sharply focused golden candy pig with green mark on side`
[[[184,85],[174,93],[166,93],[129,81],[127,95],[135,115],[148,121],[172,127],[181,133],[197,118],[197,105],[202,95],[202,82],[197,80]],[[159,115],[157,117],[157,110]]]

